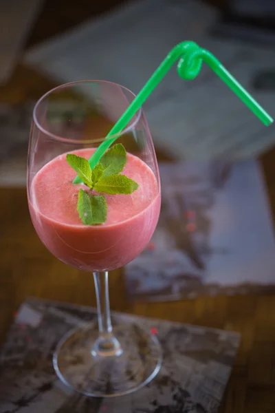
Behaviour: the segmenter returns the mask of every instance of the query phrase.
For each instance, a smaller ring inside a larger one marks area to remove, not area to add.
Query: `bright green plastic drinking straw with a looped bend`
[[[162,81],[168,70],[170,70],[178,59],[180,60],[177,64],[177,72],[181,78],[186,80],[194,79],[199,74],[202,62],[204,61],[266,126],[273,122],[272,117],[265,112],[265,109],[263,109],[263,107],[261,107],[261,105],[259,105],[259,103],[257,103],[245,89],[243,89],[239,82],[236,81],[212,53],[199,47],[199,45],[193,41],[184,41],[176,45],[170,51],[164,61],[157,67],[157,70],[155,70],[151,78],[145,83],[140,93],[137,94],[131,105],[129,105],[118,122],[115,123],[111,131],[109,131],[106,140],[104,140],[93,153],[89,159],[91,169],[96,166],[111,144],[120,137],[120,133],[123,131],[124,127],[126,127],[127,123],[133,118],[137,110],[143,105],[146,98],[153,92],[153,89],[155,89],[159,82]],[[109,138],[112,135],[116,136]],[[78,184],[80,182],[82,182],[81,179],[79,176],[76,176],[73,183]]]

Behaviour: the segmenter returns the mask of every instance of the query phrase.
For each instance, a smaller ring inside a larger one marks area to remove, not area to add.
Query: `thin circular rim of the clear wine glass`
[[[45,94],[43,94],[41,96],[41,98],[39,98],[39,100],[37,100],[36,104],[34,105],[34,109],[32,112],[32,121],[33,123],[36,125],[36,127],[43,132],[43,134],[49,136],[49,138],[51,138],[52,140],[56,140],[58,142],[63,142],[63,143],[72,143],[72,144],[78,144],[78,145],[85,145],[85,144],[89,144],[89,143],[100,143],[103,142],[104,140],[109,140],[112,138],[119,138],[120,136],[123,136],[124,134],[127,134],[129,131],[132,131],[135,127],[135,125],[137,125],[137,123],[139,122],[141,116],[142,116],[142,107],[140,107],[140,109],[137,110],[137,112],[135,113],[135,115],[133,116],[134,120],[130,121],[130,125],[125,127],[124,129],[122,129],[122,131],[119,134],[113,134],[108,136],[108,138],[106,138],[106,136],[104,136],[103,138],[98,138],[98,139],[71,139],[71,138],[65,138],[63,136],[59,136],[57,134],[53,134],[50,131],[47,131],[47,129],[45,129],[40,123],[39,120],[37,118],[37,109],[39,108],[39,105],[43,102],[43,100],[45,100],[45,98],[47,98],[48,96],[50,96],[50,94],[52,94],[53,92],[56,92],[58,89],[63,89],[65,87],[70,87],[72,85],[76,85],[78,83],[104,83],[104,84],[109,84],[109,85],[115,85],[115,86],[119,86],[121,87],[121,89],[126,90],[127,92],[129,92],[133,98],[136,97],[136,95],[127,87],[124,87],[122,85],[120,85],[119,83],[115,83],[115,82],[109,82],[109,81],[100,81],[100,80],[85,80],[85,81],[73,81],[73,82],[68,82],[68,83],[63,83],[62,85],[58,85],[56,87],[53,87],[52,89],[50,89],[48,92],[46,92]],[[133,119],[132,118],[132,119]]]

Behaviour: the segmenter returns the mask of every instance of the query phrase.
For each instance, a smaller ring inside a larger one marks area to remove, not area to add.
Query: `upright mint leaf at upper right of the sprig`
[[[100,159],[100,165],[104,168],[103,176],[120,173],[126,164],[126,151],[121,143],[113,145]]]

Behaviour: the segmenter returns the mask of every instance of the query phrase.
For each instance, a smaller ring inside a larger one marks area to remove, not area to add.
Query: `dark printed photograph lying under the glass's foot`
[[[127,396],[86,397],[63,385],[54,373],[58,340],[81,323],[97,328],[96,310],[52,301],[28,300],[21,306],[0,350],[0,413],[216,413],[239,334],[113,313],[142,324],[162,344],[162,368],[148,385]],[[104,379],[104,378],[103,378]]]

